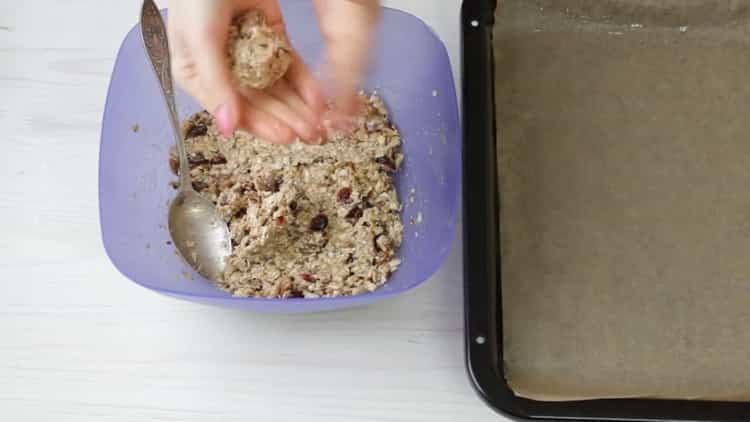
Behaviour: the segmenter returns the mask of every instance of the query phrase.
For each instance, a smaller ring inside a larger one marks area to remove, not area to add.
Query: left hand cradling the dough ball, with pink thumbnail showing
[[[340,1],[340,0],[336,0]],[[325,101],[315,78],[294,55],[287,74],[265,90],[240,89],[227,64],[232,19],[247,10],[265,14],[269,26],[285,32],[276,0],[172,0],[168,32],[177,83],[216,118],[224,136],[237,128],[274,143],[323,136]]]

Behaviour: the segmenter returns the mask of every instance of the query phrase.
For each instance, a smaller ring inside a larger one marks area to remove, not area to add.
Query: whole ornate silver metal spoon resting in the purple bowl
[[[226,258],[232,253],[229,228],[216,212],[214,204],[200,196],[190,182],[187,153],[174,103],[167,31],[159,9],[152,0],[143,2],[141,35],[169,109],[180,159],[177,196],[169,206],[169,234],[177,250],[195,271],[209,280],[216,280],[224,270]]]

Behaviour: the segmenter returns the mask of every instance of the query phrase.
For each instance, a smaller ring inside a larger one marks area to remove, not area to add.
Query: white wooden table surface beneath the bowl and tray
[[[446,43],[460,0],[392,0]],[[162,5],[164,2],[162,2]],[[100,119],[137,0],[0,0],[0,419],[496,421],[463,363],[460,239],[421,288],[275,316],[126,280],[99,236]]]

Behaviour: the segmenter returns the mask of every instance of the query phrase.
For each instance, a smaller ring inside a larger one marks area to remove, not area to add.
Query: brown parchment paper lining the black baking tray
[[[750,399],[749,6],[500,2],[518,395]]]

